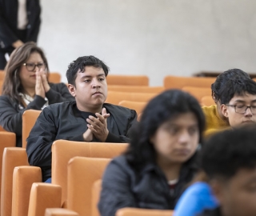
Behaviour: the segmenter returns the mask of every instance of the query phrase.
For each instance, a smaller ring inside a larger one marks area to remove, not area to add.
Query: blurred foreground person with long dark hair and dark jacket
[[[114,216],[124,207],[173,210],[194,177],[205,118],[198,101],[181,90],[153,98],[131,130],[131,142],[102,178],[98,209]]]

